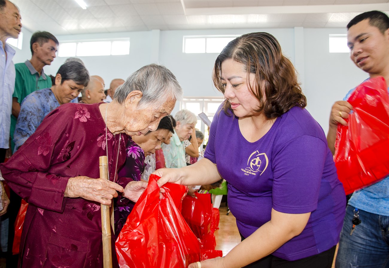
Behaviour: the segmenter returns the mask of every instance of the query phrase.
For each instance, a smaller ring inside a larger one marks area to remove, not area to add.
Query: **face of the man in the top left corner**
[[[0,11],[0,35],[6,38],[18,38],[22,28],[21,16],[18,8],[6,1],[3,11]]]

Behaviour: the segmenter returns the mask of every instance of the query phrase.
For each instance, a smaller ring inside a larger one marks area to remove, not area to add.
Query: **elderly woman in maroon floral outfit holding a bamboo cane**
[[[180,98],[174,75],[152,64],[128,77],[111,103],[68,103],[47,115],[0,165],[2,177],[30,204],[20,243],[21,267],[102,267],[100,203],[110,205],[117,191],[136,201],[147,186],[117,176],[128,135],[156,130]],[[99,178],[103,155],[109,180]],[[116,254],[112,257],[117,267]]]

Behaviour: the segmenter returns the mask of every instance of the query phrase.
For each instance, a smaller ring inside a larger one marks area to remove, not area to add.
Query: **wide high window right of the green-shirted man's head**
[[[115,41],[90,41],[61,43],[59,57],[108,56],[130,54],[130,39]]]

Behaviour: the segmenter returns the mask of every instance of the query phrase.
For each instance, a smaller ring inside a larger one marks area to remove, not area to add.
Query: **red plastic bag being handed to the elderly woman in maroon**
[[[181,200],[187,187],[167,183],[159,199],[157,178],[150,176],[116,240],[121,268],[182,268],[200,260],[199,241],[171,197]]]

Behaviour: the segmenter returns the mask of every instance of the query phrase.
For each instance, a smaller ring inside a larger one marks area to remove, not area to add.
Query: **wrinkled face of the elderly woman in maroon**
[[[143,109],[127,110],[124,132],[129,136],[142,135],[158,128],[159,121],[172,112],[175,100],[168,100],[162,105],[147,105]]]

